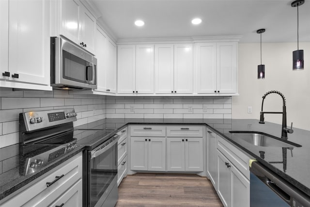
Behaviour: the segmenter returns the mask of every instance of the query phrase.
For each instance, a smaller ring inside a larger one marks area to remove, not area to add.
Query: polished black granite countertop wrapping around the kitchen
[[[310,196],[310,131],[293,128],[294,133],[288,134],[288,141],[298,143],[301,147],[294,147],[291,151],[287,151],[287,155],[283,156],[282,147],[259,147],[251,145],[242,140],[238,140],[231,135],[229,131],[260,131],[271,134],[277,137],[281,136],[281,125],[266,122],[259,124],[259,120],[255,119],[105,119],[97,122],[79,126],[78,128],[93,128],[96,126],[99,129],[109,128],[120,130],[127,124],[185,124],[185,125],[207,125],[212,130],[215,130],[221,137],[233,143],[239,149],[248,154],[252,159],[257,159],[264,166],[283,177],[294,186],[304,191]],[[5,154],[6,148],[0,149],[0,154]],[[63,161],[70,159],[78,152],[82,151],[84,146],[77,147],[72,153],[67,154],[59,159],[54,160],[41,171],[31,175],[19,175],[18,167],[0,175],[0,200],[9,194],[17,191],[19,188],[30,183],[32,180],[47,173],[55,168]],[[261,158],[260,151],[264,151],[264,159]],[[286,157],[286,167],[283,165],[283,158]],[[281,162],[281,163],[270,163]],[[10,164],[10,163],[7,163]]]

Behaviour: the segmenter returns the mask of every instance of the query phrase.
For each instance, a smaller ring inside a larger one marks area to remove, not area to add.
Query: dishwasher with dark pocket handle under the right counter
[[[250,207],[310,207],[310,197],[261,163],[252,162]]]

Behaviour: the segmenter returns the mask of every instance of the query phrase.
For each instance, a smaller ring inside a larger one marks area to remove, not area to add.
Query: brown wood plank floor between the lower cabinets
[[[210,180],[189,174],[128,175],[115,207],[223,207]]]

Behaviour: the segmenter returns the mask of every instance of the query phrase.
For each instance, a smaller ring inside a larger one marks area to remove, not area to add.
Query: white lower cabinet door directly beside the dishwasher
[[[232,194],[231,207],[250,206],[250,182],[231,164]]]

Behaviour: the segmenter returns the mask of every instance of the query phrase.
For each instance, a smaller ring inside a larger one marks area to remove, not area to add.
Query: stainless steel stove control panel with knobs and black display
[[[29,111],[19,114],[20,120],[27,131],[51,127],[59,124],[77,120],[77,113],[74,109],[60,109],[49,111]]]

